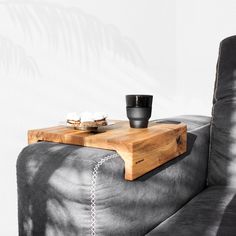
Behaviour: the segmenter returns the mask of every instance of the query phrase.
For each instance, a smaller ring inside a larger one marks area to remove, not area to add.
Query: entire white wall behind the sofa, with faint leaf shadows
[[[15,163],[28,129],[70,111],[125,118],[124,95],[154,94],[153,116],[211,110],[219,41],[234,1],[0,3],[0,235],[17,234]]]

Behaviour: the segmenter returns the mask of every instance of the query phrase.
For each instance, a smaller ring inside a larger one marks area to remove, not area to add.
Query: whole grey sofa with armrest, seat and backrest
[[[236,36],[212,118],[179,116],[187,153],[130,182],[113,151],[40,142],[17,160],[19,235],[236,235]],[[170,119],[168,119],[170,120]]]

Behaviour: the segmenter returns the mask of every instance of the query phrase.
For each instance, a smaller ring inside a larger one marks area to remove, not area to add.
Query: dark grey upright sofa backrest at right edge
[[[208,183],[236,187],[236,36],[220,44]]]

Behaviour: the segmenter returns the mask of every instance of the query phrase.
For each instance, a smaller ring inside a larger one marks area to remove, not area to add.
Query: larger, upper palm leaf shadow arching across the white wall
[[[131,39],[124,37],[116,27],[103,24],[77,7],[24,0],[5,0],[0,2],[1,5],[24,37],[31,42],[40,38],[55,53],[63,50],[84,67],[91,61],[99,65],[104,55],[112,63],[121,58],[139,68],[145,65]]]

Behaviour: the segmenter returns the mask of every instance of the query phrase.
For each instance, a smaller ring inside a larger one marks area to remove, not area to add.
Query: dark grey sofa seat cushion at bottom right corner
[[[207,188],[147,235],[235,236],[236,188]]]

